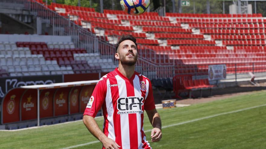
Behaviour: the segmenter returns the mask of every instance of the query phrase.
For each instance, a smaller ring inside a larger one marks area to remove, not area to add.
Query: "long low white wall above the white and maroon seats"
[[[71,42],[71,36],[0,34],[2,42]]]

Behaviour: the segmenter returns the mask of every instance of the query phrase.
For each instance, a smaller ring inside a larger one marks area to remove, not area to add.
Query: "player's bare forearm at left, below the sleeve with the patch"
[[[106,135],[100,130],[98,124],[92,116],[84,115],[83,123],[92,135],[94,135],[99,141],[104,141]]]

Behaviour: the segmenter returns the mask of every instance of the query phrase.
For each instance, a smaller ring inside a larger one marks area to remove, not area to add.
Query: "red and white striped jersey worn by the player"
[[[144,134],[144,110],[155,108],[151,82],[135,72],[128,79],[116,68],[97,83],[83,115],[102,107],[103,133],[121,149],[151,149]],[[103,147],[104,149],[104,147]]]

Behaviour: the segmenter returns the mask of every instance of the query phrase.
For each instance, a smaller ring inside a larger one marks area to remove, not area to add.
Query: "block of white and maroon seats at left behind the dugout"
[[[9,36],[16,39],[20,35]],[[99,73],[116,67],[112,59],[75,48],[72,42],[3,41],[0,52],[1,76]]]

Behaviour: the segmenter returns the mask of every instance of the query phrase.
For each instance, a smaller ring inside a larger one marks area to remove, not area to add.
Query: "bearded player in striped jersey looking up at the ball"
[[[89,132],[102,142],[103,149],[151,149],[144,134],[144,110],[151,125],[151,141],[162,137],[161,119],[154,104],[151,81],[135,72],[138,58],[136,39],[123,35],[116,45],[118,68],[97,83],[84,112]],[[102,107],[103,132],[94,117]]]

